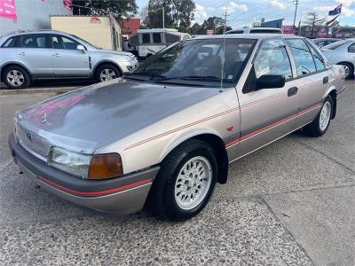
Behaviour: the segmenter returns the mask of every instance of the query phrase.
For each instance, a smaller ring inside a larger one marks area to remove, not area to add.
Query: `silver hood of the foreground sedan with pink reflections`
[[[22,138],[31,135],[29,145],[43,156],[52,145],[94,153],[100,145],[127,137],[217,93],[217,88],[120,79],[75,90],[22,110],[16,115],[17,128]]]

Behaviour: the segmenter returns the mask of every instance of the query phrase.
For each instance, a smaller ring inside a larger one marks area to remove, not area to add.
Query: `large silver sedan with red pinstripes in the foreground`
[[[16,113],[9,145],[20,171],[60,198],[184,220],[227,182],[229,163],[296,129],[322,136],[343,80],[301,37],[194,38]]]

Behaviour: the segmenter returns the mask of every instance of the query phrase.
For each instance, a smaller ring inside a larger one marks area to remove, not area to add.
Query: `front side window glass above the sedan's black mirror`
[[[256,79],[264,74],[283,75],[292,78],[291,62],[282,40],[266,40],[261,43],[254,61]]]

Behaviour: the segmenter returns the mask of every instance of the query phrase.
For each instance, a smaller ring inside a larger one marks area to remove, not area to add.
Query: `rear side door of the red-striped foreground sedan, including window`
[[[310,43],[301,38],[290,38],[286,42],[296,65],[296,81],[300,95],[296,122],[299,128],[316,117],[331,77],[324,60]]]

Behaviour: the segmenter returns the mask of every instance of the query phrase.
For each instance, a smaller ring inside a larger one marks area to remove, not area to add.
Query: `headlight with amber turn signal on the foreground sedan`
[[[52,147],[48,165],[84,179],[106,179],[122,176],[121,157],[117,153],[86,155]]]

